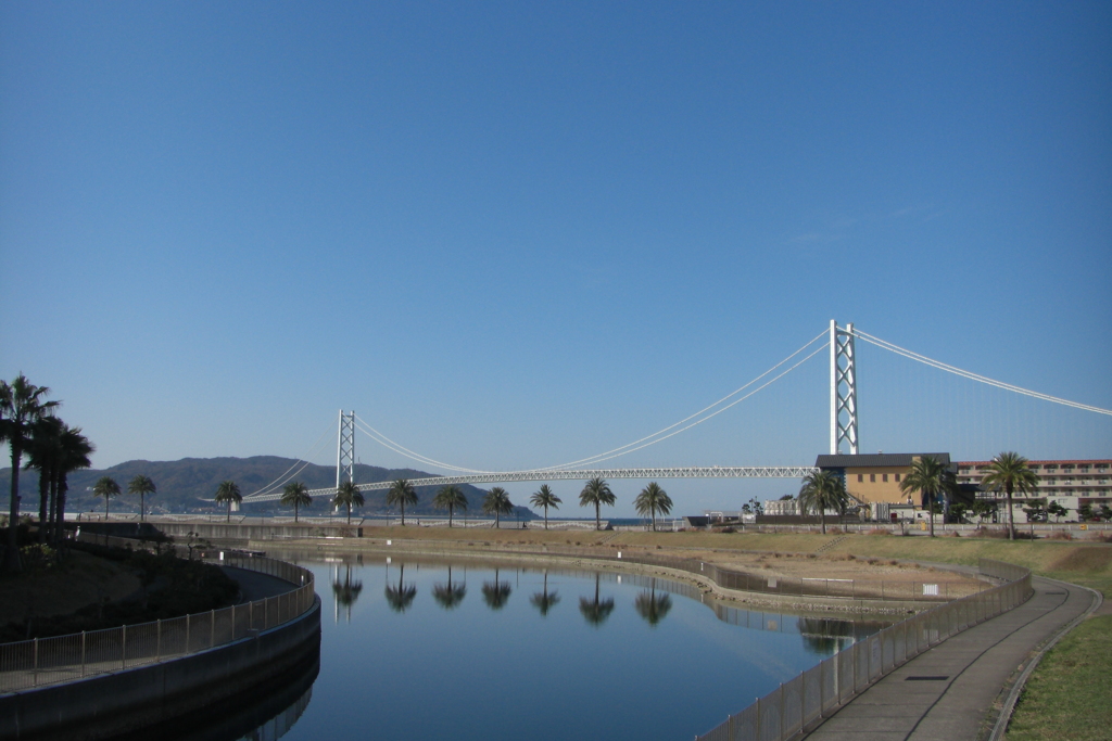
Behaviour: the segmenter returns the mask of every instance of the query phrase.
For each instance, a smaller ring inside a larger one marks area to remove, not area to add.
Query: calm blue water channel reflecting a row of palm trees
[[[715,608],[609,571],[281,558],[316,573],[320,671],[232,738],[681,741],[886,624]]]

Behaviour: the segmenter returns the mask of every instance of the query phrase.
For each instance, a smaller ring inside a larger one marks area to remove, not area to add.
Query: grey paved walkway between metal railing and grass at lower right
[[[943,641],[851,700],[803,738],[814,741],[975,741],[1031,652],[1093,602],[1091,592],[1035,577],[1020,607]],[[985,730],[987,729],[987,731]]]

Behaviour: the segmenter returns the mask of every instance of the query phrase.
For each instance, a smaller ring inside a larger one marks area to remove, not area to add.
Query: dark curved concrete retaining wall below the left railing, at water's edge
[[[288,623],[209,651],[0,695],[0,740],[96,741],[165,723],[320,655],[320,598]]]

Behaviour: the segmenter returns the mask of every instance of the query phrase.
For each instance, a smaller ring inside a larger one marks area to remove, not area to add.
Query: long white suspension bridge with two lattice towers
[[[484,471],[453,465],[434,460],[405,448],[357,417],[354,411],[345,412],[344,410],[340,410],[336,438],[336,488],[339,488],[339,485],[345,481],[355,482],[356,431],[363,432],[376,443],[394,451],[395,453],[399,453],[418,463],[449,472],[445,475],[410,479],[410,483],[415,487],[446,485],[455,483],[486,484],[520,481],[589,480],[594,478],[801,479],[816,469],[812,465],[681,465],[662,468],[614,468],[598,467],[598,464],[659,443],[698,424],[702,424],[714,417],[717,417],[718,414],[772,385],[780,379],[790,374],[793,370],[806,363],[812,358],[822,353],[824,350],[828,351],[830,361],[830,452],[832,454],[848,453],[856,455],[858,454],[860,449],[856,351],[856,343],[858,340],[886,350],[895,356],[915,361],[916,363],[922,363],[926,367],[975,381],[987,387],[1062,407],[1112,417],[1112,410],[1070,401],[1068,399],[1061,399],[1059,397],[1053,397],[1046,393],[1023,389],[1003,381],[997,381],[937,360],[933,360],[892,342],[887,342],[856,329],[853,323],[842,327],[838,326],[835,320],[831,320],[827,329],[824,329],[820,334],[812,338],[806,344],[790,354],[787,358],[780,361],[745,385],[701,409],[694,414],[691,414],[678,422],[664,428],[663,430],[658,430],[619,448],[548,468],[524,471]],[[319,442],[320,441],[318,441],[318,444]],[[308,458],[308,455],[306,458]],[[244,503],[274,501],[280,499],[282,495],[281,488],[285,483],[296,478],[300,470],[302,470],[306,465],[308,465],[306,460],[302,459],[297,461],[292,467],[290,467],[289,470],[282,473],[281,477],[258,491],[246,495],[244,498]],[[366,492],[389,489],[391,483],[393,482],[390,481],[380,481],[371,483],[356,483],[356,485],[360,491]],[[336,492],[336,488],[314,489],[309,491],[309,494],[314,497],[329,497]]]

